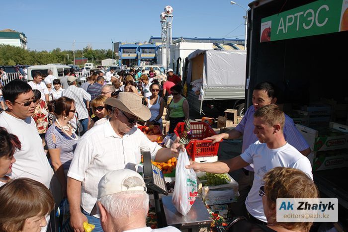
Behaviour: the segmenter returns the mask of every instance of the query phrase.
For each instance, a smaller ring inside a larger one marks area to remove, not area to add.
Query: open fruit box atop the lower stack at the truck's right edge
[[[348,148],[348,126],[330,122],[328,131],[323,136],[319,136],[319,131],[295,124],[296,128],[303,135],[313,152],[328,151]]]

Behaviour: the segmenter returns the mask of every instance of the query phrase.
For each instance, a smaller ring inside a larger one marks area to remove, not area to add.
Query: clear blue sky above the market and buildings
[[[235,0],[245,8],[251,0]],[[25,33],[30,50],[71,50],[161,35],[160,13],[174,8],[173,36],[244,39],[245,10],[230,0],[3,0],[1,29]]]

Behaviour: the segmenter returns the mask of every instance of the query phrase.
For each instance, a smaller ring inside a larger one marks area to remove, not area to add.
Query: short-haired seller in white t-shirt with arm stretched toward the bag
[[[254,134],[259,141],[250,145],[237,157],[213,163],[191,161],[187,168],[195,171],[227,173],[254,163],[254,182],[245,202],[249,218],[256,223],[266,223],[262,198],[258,192],[262,186],[263,175],[273,167],[293,167],[307,173],[312,179],[312,167],[309,159],[285,141],[283,128],[285,116],[276,105],[267,105],[254,114]]]

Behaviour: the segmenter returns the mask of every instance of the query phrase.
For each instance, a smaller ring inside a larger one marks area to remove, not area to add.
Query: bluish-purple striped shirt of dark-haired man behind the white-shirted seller
[[[245,113],[242,121],[235,128],[237,131],[243,134],[243,145],[242,153],[249,148],[251,144],[254,144],[258,141],[258,137],[254,134],[254,106],[250,106],[247,112]],[[303,138],[301,133],[296,129],[294,121],[285,114],[285,124],[283,128],[284,138],[291,146],[301,152],[309,148],[306,140]],[[254,165],[250,164],[246,166],[245,169],[249,171],[254,171]]]

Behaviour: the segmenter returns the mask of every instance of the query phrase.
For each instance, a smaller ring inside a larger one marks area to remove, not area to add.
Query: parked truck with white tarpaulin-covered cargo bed
[[[245,111],[245,50],[196,50],[186,59],[187,101],[191,108],[204,114],[203,105],[221,111]]]

